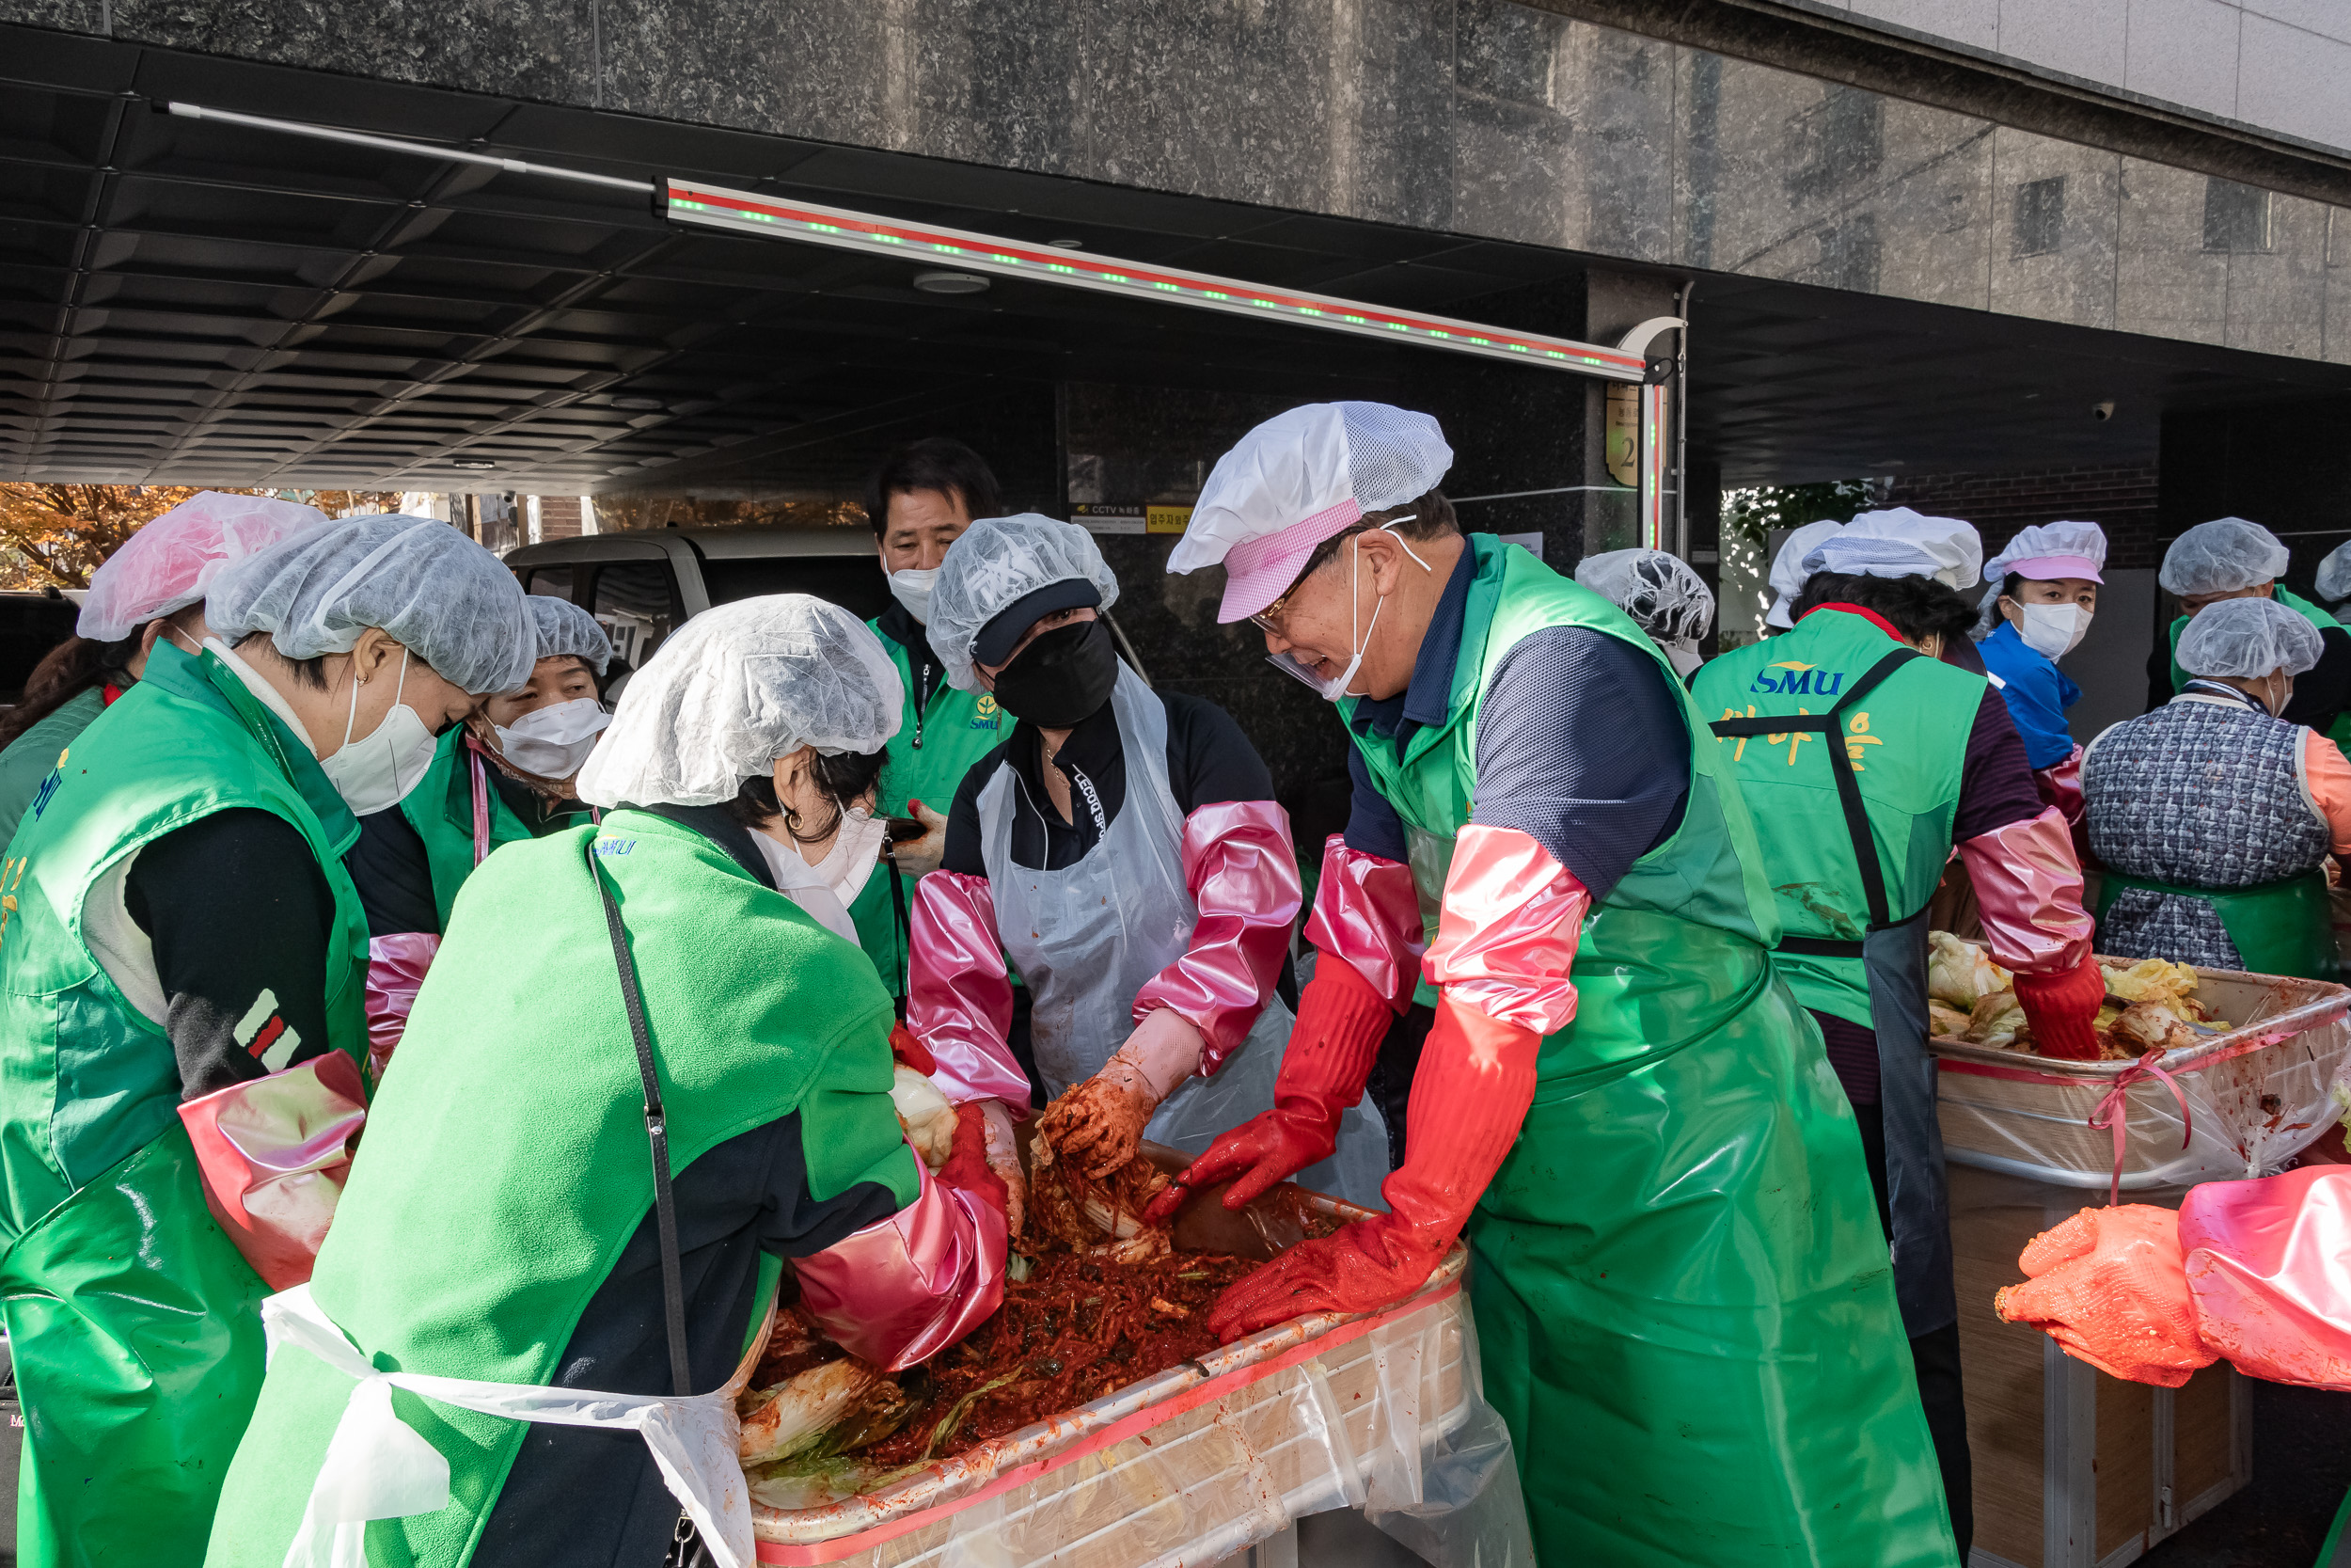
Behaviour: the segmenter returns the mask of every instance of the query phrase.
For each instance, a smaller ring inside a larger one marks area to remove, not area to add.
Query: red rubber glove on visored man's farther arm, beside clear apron
[[[1380,1056],[1380,1039],[1394,1011],[1354,964],[1321,954],[1314,978],[1298,994],[1298,1023],[1291,1025],[1274,1077],[1274,1110],[1218,1135],[1208,1152],[1152,1199],[1145,1225],[1166,1225],[1192,1187],[1220,1182],[1241,1173],[1225,1194],[1225,1208],[1241,1208],[1279,1180],[1331,1159],[1338,1147],[1338,1119],[1364,1098],[1364,1079]]]

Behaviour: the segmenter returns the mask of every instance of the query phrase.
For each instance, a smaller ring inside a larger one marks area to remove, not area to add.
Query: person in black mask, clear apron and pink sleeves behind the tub
[[[933,649],[1018,724],[955,792],[945,867],[915,896],[907,1006],[940,1091],[983,1100],[1009,1147],[1030,1110],[1006,1051],[1011,954],[1060,1095],[1056,1143],[1091,1171],[1145,1135],[1199,1152],[1274,1103],[1291,1030],[1274,987],[1300,905],[1265,762],[1223,708],[1119,663],[1103,623],[1117,597],[1077,524],[990,517],[947,550]],[[1371,1201],[1387,1133],[1357,1100],[1361,1084],[1333,1112],[1338,1157],[1307,1180]]]

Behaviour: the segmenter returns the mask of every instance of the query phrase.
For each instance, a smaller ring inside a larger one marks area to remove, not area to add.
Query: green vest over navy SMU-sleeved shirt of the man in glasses
[[[1469,820],[1469,799],[1476,792],[1479,698],[1502,656],[1521,637],[1547,625],[1582,625],[1606,632],[1665,670],[1674,693],[1681,696],[1674,665],[1615,604],[1578,588],[1493,534],[1472,534],[1469,548],[1476,550],[1476,576],[1469,583],[1446,722],[1413,731],[1404,757],[1396,757],[1394,741],[1364,736],[1354,731],[1354,724],[1347,726],[1371,769],[1373,785],[1404,818],[1413,886],[1420,891],[1420,919],[1432,943],[1436,940],[1446,872],[1453,865],[1453,835]],[[1697,719],[1697,708],[1690,705],[1688,696],[1681,696],[1681,705],[1693,733],[1702,736],[1704,722]],[[1340,712],[1352,719],[1354,703],[1340,703]],[[1578,1034],[1575,1053],[1585,1060],[1615,1060],[1643,1048],[1639,1032],[1622,1034],[1610,1023],[1622,1011],[1594,1006],[1596,999],[1615,997],[1632,1004],[1650,985],[1681,983],[1679,964],[1653,966],[1660,950],[1650,950],[1648,943],[1683,940],[1693,926],[1721,933],[1733,943],[1763,947],[1780,936],[1770,912],[1770,889],[1754,870],[1761,856],[1754,849],[1747,809],[1735,790],[1721,785],[1719,776],[1721,764],[1712,748],[1693,745],[1690,804],[1681,827],[1672,839],[1634,860],[1625,879],[1592,912],[1594,919],[1585,924],[1585,940],[1575,957],[1575,987],[1587,997],[1587,1004],[1570,1030]],[[1615,919],[1599,922],[1603,910]],[[1585,990],[1587,985],[1594,990]],[[1420,1001],[1436,1001],[1427,980],[1415,994]],[[1599,1023],[1592,1023],[1594,1018]],[[1552,1044],[1561,1044],[1561,1039],[1554,1037]]]

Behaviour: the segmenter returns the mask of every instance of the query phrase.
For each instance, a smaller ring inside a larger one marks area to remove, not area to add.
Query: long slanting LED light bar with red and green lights
[[[870,256],[898,256],[922,266],[955,263],[999,277],[1030,277],[1034,282],[1124,294],[1166,306],[1192,306],[1197,310],[1223,310],[1260,320],[1272,317],[1295,327],[1319,327],[1324,331],[1387,339],[1392,343],[1404,341],[1422,348],[1507,360],[1512,364],[1561,369],[1575,376],[1599,376],[1603,381],[1641,381],[1646,374],[1643,357],[1622,348],[1549,339],[1533,331],[1502,331],[1500,327],[1460,322],[1451,315],[1389,310],[1328,294],[1265,289],[1211,273],[1187,273],[1183,268],[1145,266],[1140,261],[1067,252],[1051,244],[999,240],[997,235],[976,235],[962,228],[877,219],[868,212],[750,195],[748,190],[724,190],[684,179],[668,181],[668,214],[677,223],[729,228],[771,240],[799,240],[804,244],[865,252]]]

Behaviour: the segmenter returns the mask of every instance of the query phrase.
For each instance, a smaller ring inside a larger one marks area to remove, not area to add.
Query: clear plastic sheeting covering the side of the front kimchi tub
[[[1074,1439],[1053,1432],[1072,1415],[950,1460],[952,1479],[917,1509],[757,1509],[759,1561],[1197,1568],[1293,1519],[1359,1507],[1434,1568],[1533,1568],[1458,1269],[1371,1319],[1227,1345],[1152,1394],[1128,1410],[1117,1394],[1100,1401],[1110,1420]]]

